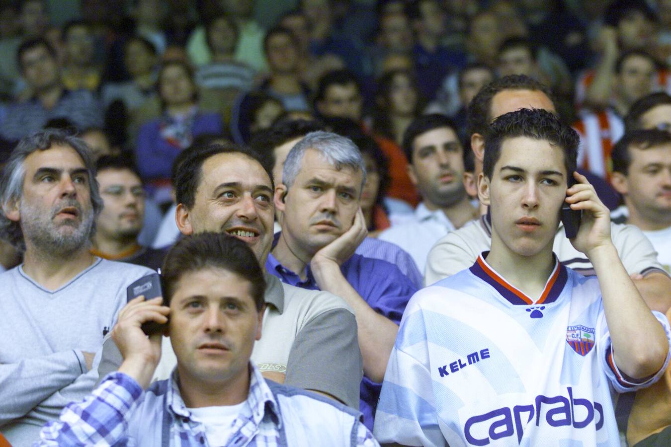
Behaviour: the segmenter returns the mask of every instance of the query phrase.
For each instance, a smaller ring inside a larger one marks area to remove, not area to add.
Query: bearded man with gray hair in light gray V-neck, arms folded
[[[23,138],[0,178],[0,237],[24,251],[0,274],[0,430],[15,447],[89,393],[95,353],[150,273],[89,253],[102,200],[87,145],[48,129]]]

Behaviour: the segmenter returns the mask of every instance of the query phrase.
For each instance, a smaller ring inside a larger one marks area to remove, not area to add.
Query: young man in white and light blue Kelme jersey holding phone
[[[575,131],[521,109],[499,117],[485,145],[478,196],[491,250],[409,302],[374,434],[408,446],[619,446],[611,393],[659,379],[668,320],[641,298],[609,210],[574,172]],[[597,277],[552,253],[564,204],[582,212],[572,244]]]

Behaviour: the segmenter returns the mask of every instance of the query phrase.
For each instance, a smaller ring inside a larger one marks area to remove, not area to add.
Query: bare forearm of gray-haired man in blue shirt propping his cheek
[[[374,382],[382,382],[399,326],[372,310],[348,283],[338,265],[325,268],[313,266],[313,275],[321,290],[340,296],[354,309],[364,374]]]

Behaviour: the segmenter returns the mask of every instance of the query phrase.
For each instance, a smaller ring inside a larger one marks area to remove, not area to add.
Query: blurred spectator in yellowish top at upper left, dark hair
[[[98,90],[101,68],[93,60],[93,35],[85,21],[71,21],[63,28],[63,85],[68,90]]]

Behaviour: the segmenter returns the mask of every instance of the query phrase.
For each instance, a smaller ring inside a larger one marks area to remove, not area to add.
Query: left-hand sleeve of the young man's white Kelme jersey
[[[429,350],[422,310],[415,294],[401,320],[389,357],[373,434],[381,444],[446,446],[437,421],[429,372]]]

